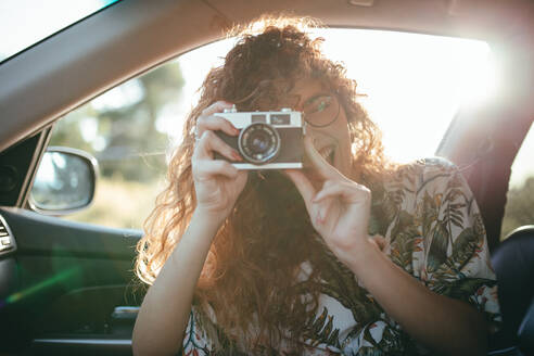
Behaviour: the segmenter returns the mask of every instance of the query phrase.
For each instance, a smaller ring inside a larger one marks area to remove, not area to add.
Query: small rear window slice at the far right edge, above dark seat
[[[513,164],[505,217],[500,230],[504,240],[513,229],[523,225],[534,225],[534,126],[521,144]]]

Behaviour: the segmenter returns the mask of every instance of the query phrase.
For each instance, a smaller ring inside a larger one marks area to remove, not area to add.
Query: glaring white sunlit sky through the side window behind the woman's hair
[[[329,59],[343,62],[356,79],[359,99],[383,131],[386,154],[405,163],[434,155],[460,105],[492,98],[495,68],[490,47],[482,41],[364,29],[319,29]],[[234,40],[215,42],[178,59],[186,79],[177,117],[198,101],[195,90]],[[160,130],[179,138],[181,129],[168,119]],[[169,125],[169,126],[167,126]],[[181,125],[180,125],[181,126]]]

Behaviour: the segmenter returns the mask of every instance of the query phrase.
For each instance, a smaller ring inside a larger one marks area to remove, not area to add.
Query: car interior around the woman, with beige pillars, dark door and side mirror
[[[0,64],[1,354],[131,354],[144,292],[134,275],[142,230],[58,217],[91,202],[99,169],[79,150],[49,145],[58,120],[130,78],[221,39],[232,24],[288,7],[332,27],[491,46],[505,93],[459,110],[435,154],[461,167],[490,249],[499,251],[511,166],[534,119],[532,1],[123,0]],[[136,130],[135,122],[129,129]],[[42,175],[47,165],[55,167],[56,190],[46,181],[50,175]],[[513,336],[493,342],[494,354],[532,351],[532,336],[519,346]]]

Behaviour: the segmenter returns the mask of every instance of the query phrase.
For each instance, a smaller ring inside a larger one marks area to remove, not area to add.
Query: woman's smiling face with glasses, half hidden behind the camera
[[[314,140],[316,150],[345,177],[356,179],[352,169],[348,122],[335,94],[319,80],[301,79],[288,98],[293,102],[289,107],[304,112],[308,122],[306,135]]]

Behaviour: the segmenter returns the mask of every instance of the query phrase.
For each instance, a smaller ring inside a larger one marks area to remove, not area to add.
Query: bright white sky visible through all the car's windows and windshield
[[[0,0],[0,61],[112,2]],[[326,38],[326,54],[344,63],[367,94],[360,102],[382,128],[386,154],[398,162],[432,156],[462,103],[483,104],[498,91],[491,49],[481,41],[380,30],[330,29],[314,36]],[[221,63],[232,43],[216,42],[177,60],[183,93],[162,109],[158,129],[179,135],[176,117],[194,104],[207,71]],[[532,164],[521,163],[534,152],[534,134],[529,137],[512,167],[512,186],[534,174]]]

